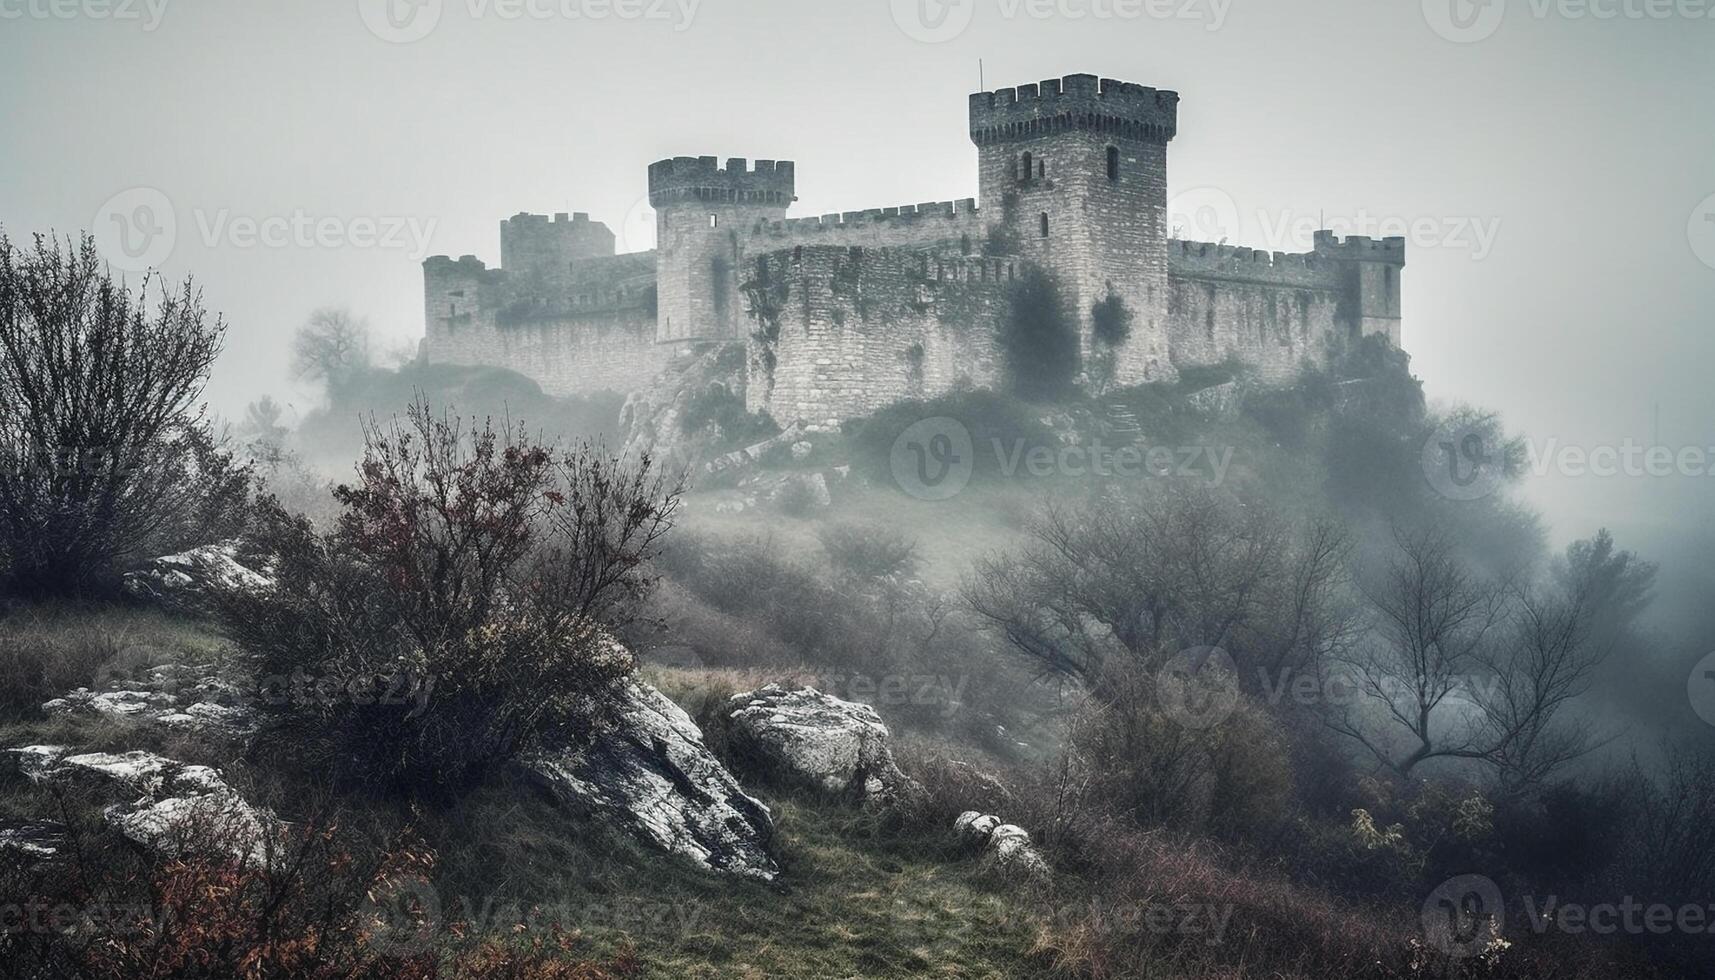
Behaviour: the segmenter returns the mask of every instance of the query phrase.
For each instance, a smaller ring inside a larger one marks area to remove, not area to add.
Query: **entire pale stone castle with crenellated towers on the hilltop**
[[[652,252],[616,254],[588,215],[518,215],[501,268],[424,263],[424,354],[575,395],[744,343],[748,408],[816,429],[1000,384],[1000,328],[1038,273],[1077,324],[1087,384],[1230,359],[1281,379],[1358,336],[1399,345],[1403,239],[1319,232],[1305,254],[1171,239],[1176,130],[1178,93],[1096,76],[978,93],[976,199],[820,218],[787,216],[792,163],[664,160],[648,168]]]

